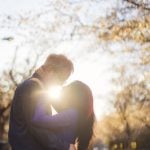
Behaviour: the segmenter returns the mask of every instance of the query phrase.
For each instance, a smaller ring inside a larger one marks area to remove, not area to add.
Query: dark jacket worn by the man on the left
[[[33,77],[38,78],[38,75],[34,74]],[[41,87],[38,83],[27,79],[15,91],[8,135],[12,150],[68,150],[69,143],[59,139],[53,131],[31,123],[38,98],[33,95],[39,90]],[[48,110],[51,113],[50,107]]]

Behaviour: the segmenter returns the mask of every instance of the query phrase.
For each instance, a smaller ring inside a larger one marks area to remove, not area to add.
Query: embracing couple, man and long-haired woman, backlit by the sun
[[[15,90],[9,143],[12,150],[87,150],[93,135],[94,111],[90,88],[81,81],[63,86],[60,101],[48,87],[63,85],[73,72],[64,55],[50,54],[45,63]],[[57,111],[52,115],[51,106]]]

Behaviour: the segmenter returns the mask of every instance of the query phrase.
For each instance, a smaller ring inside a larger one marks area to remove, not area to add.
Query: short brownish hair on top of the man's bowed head
[[[50,54],[42,67],[45,71],[55,71],[56,73],[60,73],[64,69],[70,71],[70,74],[74,71],[72,61],[62,54]]]

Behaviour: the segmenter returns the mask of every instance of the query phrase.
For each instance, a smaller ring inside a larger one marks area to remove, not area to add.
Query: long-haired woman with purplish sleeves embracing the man
[[[94,124],[90,88],[81,81],[74,81],[63,88],[61,99],[63,111],[53,116],[45,114],[47,102],[40,100],[32,118],[33,124],[53,129],[63,140],[72,144],[77,142],[78,150],[87,150]]]

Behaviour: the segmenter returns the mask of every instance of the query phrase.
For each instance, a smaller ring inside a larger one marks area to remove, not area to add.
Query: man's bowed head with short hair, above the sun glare
[[[73,63],[66,56],[50,54],[37,73],[47,84],[63,84],[73,70]]]

